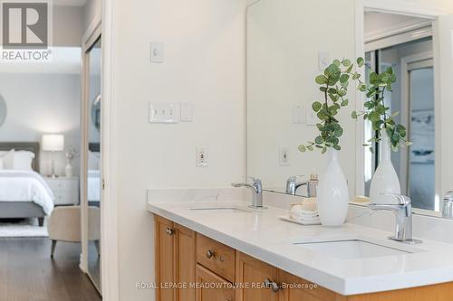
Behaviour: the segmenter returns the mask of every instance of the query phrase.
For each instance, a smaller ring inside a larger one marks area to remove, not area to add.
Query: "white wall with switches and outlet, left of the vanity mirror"
[[[113,95],[120,300],[153,300],[154,226],[146,190],[229,186],[245,176],[245,0],[116,1]],[[149,62],[164,42],[165,62]],[[148,123],[148,102],[190,101],[194,122]],[[195,166],[196,146],[209,166]]]

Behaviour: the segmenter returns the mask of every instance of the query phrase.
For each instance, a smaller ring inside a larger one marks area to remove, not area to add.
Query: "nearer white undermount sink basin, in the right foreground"
[[[422,250],[401,246],[384,246],[374,241],[361,239],[295,242],[304,249],[310,249],[337,259],[368,259],[384,256],[407,255]]]

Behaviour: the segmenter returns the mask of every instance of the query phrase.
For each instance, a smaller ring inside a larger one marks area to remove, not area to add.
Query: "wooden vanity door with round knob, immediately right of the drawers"
[[[278,301],[277,268],[246,254],[236,253],[237,301]]]

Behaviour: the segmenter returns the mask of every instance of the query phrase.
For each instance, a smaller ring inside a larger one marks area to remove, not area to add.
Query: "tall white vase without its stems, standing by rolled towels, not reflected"
[[[329,164],[318,187],[318,212],[323,226],[341,226],[349,208],[348,183],[338,162],[338,152],[329,150]]]

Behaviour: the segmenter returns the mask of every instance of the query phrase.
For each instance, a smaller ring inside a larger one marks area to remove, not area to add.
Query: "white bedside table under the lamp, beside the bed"
[[[78,177],[44,177],[44,180],[53,191],[53,195],[55,196],[55,206],[74,205],[79,203]]]

